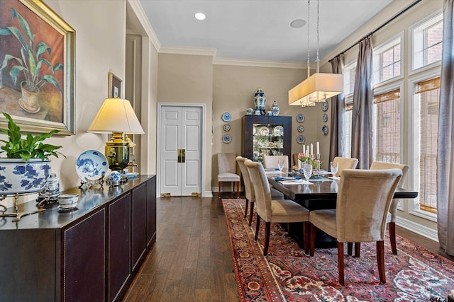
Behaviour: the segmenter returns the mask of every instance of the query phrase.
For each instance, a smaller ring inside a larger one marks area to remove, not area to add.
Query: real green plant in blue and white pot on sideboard
[[[8,135],[8,140],[0,139],[4,143],[0,153],[6,153],[6,158],[0,158],[0,195],[38,192],[50,175],[50,156],[64,156],[57,151],[62,146],[43,144],[59,130],[33,136],[22,133],[8,113],[3,115],[8,120],[8,129],[0,131]]]

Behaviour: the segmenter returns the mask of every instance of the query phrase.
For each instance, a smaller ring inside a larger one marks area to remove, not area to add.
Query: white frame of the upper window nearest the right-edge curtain
[[[438,20],[438,21],[433,20],[436,18],[441,18],[441,21],[443,21],[443,9],[439,9],[438,11],[435,11],[435,12],[431,13],[430,15],[426,16],[426,18],[421,19],[421,21],[409,26],[409,58],[411,58],[411,60],[409,60],[409,62],[408,62],[409,76],[419,73],[421,71],[426,71],[428,69],[432,69],[434,67],[441,66],[441,60],[439,60],[437,62],[433,62],[431,64],[427,64],[427,65],[423,65],[423,66],[419,66],[419,67],[415,68],[415,57],[416,57],[415,56],[415,54],[416,54],[415,42],[416,42],[416,39],[415,39],[414,31],[417,28],[421,27],[421,25],[423,25],[424,23],[429,23],[430,21],[433,21],[432,25],[435,23],[438,23],[440,20]],[[443,42],[443,39],[442,39],[442,42]]]

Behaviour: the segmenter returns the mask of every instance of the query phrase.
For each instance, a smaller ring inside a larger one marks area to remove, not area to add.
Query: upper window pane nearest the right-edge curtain
[[[443,46],[443,14],[429,19],[413,29],[413,69],[441,61]]]

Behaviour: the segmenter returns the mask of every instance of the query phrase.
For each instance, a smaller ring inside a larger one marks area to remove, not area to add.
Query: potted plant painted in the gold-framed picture
[[[21,45],[21,57],[5,54],[0,72],[6,69],[10,61],[15,62],[9,71],[14,85],[16,85],[21,73],[25,77],[25,80],[21,82],[22,98],[19,100],[19,105],[28,112],[38,112],[40,110],[38,95],[40,89],[46,83],[55,86],[60,92],[60,95],[62,94],[62,88],[53,74],[55,71],[63,69],[63,65],[61,63],[56,63],[54,66],[50,64],[49,59],[45,58],[45,53],[47,52],[48,57],[50,57],[52,49],[43,41],[35,44],[36,35],[32,33],[26,19],[14,8],[11,8],[11,16],[13,17],[13,21],[17,19],[17,23],[21,29],[16,26],[7,26],[0,28],[0,35],[13,35],[16,37]],[[48,68],[43,68],[43,66],[48,66]]]

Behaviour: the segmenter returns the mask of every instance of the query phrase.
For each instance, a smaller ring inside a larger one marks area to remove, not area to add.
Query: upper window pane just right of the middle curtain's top
[[[401,37],[377,47],[374,50],[374,83],[382,83],[396,78],[401,72]]]

